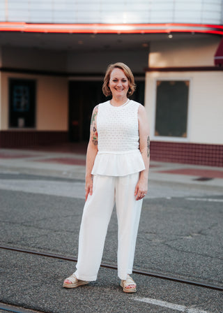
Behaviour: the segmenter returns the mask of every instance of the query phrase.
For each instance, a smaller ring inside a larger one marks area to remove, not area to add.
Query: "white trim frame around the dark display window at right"
[[[188,80],[189,81],[189,89],[188,89],[188,104],[187,104],[187,137],[169,137],[169,136],[155,136],[155,111],[156,111],[156,86],[157,80]],[[156,77],[153,78],[153,124],[151,125],[151,140],[153,141],[167,141],[167,142],[180,142],[180,143],[188,143],[190,141],[190,103],[192,103],[192,77],[183,77],[179,78],[176,76],[173,77]]]

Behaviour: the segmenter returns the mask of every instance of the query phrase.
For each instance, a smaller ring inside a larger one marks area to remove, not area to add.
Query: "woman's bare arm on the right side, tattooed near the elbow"
[[[141,170],[139,181],[134,191],[136,200],[144,198],[144,194],[148,191],[148,168],[150,161],[150,138],[147,112],[143,105],[139,105],[139,150],[144,160],[145,170]]]

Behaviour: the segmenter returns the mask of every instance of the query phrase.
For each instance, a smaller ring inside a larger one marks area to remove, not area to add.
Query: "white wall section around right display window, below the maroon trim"
[[[190,80],[187,138],[154,136],[156,80]],[[152,140],[223,144],[222,71],[151,72],[146,74],[146,110]]]

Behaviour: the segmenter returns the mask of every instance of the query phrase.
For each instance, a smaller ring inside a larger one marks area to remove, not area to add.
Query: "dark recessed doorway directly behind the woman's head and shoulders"
[[[138,81],[132,99],[144,104],[144,81]],[[109,100],[102,93],[101,81],[69,82],[69,138],[70,141],[88,141],[92,110],[98,103]]]

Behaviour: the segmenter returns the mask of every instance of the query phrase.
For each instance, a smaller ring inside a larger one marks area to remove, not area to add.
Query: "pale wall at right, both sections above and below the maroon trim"
[[[213,66],[221,38],[206,36],[191,41],[151,43],[151,68]],[[156,80],[190,80],[187,138],[154,136]],[[146,110],[152,140],[223,144],[223,71],[173,71],[146,73]]]

